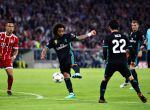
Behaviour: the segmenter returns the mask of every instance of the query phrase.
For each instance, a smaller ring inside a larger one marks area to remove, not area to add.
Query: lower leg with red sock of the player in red
[[[6,68],[6,72],[7,72],[7,76],[8,76],[8,80],[7,80],[7,83],[8,83],[8,88],[7,88],[7,94],[8,95],[12,95],[12,84],[13,84],[13,68],[10,67],[10,68]]]

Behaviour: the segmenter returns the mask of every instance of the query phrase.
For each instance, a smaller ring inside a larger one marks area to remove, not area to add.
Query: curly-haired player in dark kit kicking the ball
[[[66,98],[74,98],[75,94],[73,92],[72,83],[70,80],[70,69],[71,69],[71,54],[70,54],[70,43],[72,41],[82,40],[91,36],[96,35],[96,31],[92,30],[86,35],[76,36],[74,34],[64,34],[65,26],[63,24],[55,25],[53,29],[54,38],[49,41],[47,47],[45,47],[41,53],[41,59],[45,59],[45,55],[47,50],[50,48],[54,48],[57,53],[59,63],[60,63],[60,71],[64,75],[64,80],[66,83],[66,87],[69,91],[69,95]]]

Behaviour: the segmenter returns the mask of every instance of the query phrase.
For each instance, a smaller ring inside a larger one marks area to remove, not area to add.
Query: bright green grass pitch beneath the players
[[[120,89],[124,78],[114,74],[106,91],[107,104],[99,104],[99,85],[104,69],[81,69],[83,79],[72,79],[76,99],[65,100],[68,95],[65,84],[54,83],[52,73],[58,69],[14,70],[13,96],[7,96],[7,77],[0,70],[0,110],[150,110],[150,101],[143,104],[133,90]],[[150,99],[150,69],[137,70],[140,85]],[[24,92],[24,93],[22,93]],[[32,93],[29,94],[29,93]],[[44,99],[37,99],[38,94]]]

